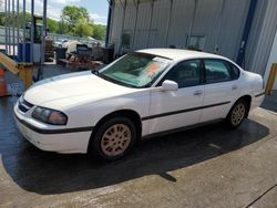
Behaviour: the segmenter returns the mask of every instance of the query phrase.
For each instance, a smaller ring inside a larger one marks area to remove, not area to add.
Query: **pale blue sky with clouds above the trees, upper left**
[[[0,0],[0,10],[4,10],[4,6],[1,4],[4,0]],[[12,2],[12,0],[10,0]],[[17,0],[14,0],[17,4]],[[22,0],[20,0],[22,2]],[[31,0],[25,0],[27,11],[31,10]],[[12,4],[12,3],[11,3]],[[107,19],[107,0],[48,0],[48,17],[54,20],[60,20],[62,8],[65,6],[84,7],[88,9],[90,17],[95,23],[106,24]],[[12,8],[12,6],[10,6]],[[17,8],[17,6],[16,6]],[[22,4],[20,4],[22,9]],[[12,10],[12,9],[11,9]],[[34,12],[42,15],[43,0],[34,0]]]

